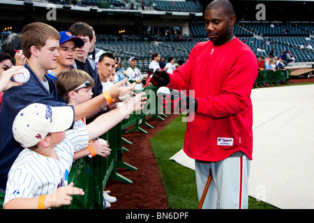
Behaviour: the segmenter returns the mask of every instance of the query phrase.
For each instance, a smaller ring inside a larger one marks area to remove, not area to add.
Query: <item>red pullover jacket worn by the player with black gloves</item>
[[[170,75],[168,85],[194,90],[198,102],[193,121],[186,126],[186,155],[217,162],[242,151],[252,160],[250,95],[257,72],[255,54],[238,38],[220,46],[211,41],[195,45],[188,61]]]

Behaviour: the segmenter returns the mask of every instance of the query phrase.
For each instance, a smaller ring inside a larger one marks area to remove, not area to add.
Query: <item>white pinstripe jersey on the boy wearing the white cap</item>
[[[66,138],[55,146],[59,160],[24,148],[8,173],[4,203],[19,197],[39,197],[61,187],[66,169],[72,166],[73,154],[88,143],[89,133],[84,126],[66,131]]]

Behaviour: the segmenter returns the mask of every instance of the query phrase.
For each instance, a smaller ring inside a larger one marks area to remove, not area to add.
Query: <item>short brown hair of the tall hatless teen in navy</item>
[[[31,57],[31,46],[37,49],[45,46],[46,41],[59,40],[60,35],[57,29],[43,22],[33,22],[24,26],[21,33],[21,47],[27,59]]]

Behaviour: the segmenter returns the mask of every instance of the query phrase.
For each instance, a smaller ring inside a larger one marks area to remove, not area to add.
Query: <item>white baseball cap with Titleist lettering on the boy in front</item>
[[[22,109],[13,122],[13,136],[24,147],[35,146],[50,132],[71,127],[74,112],[70,106],[51,107],[33,103]]]

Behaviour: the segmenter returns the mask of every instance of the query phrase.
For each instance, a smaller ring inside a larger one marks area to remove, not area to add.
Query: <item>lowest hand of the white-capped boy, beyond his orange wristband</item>
[[[84,195],[84,191],[78,187],[73,187],[71,182],[66,187],[59,187],[54,192],[47,194],[44,201],[45,208],[60,207],[63,205],[70,205],[73,197],[70,195]]]

